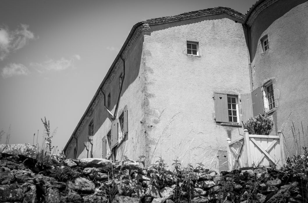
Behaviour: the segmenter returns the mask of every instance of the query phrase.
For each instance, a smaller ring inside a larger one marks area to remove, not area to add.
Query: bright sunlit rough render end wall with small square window
[[[218,168],[217,150],[242,128],[216,125],[213,93],[250,92],[242,25],[217,15],[188,24],[151,27],[144,36],[148,159],[171,166],[178,158]],[[220,18],[220,19],[219,19]],[[187,55],[186,41],[199,42],[200,57]]]

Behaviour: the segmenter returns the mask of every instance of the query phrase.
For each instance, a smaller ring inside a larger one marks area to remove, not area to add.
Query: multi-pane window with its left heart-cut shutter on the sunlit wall
[[[237,95],[214,93],[215,120],[220,123],[238,123]]]

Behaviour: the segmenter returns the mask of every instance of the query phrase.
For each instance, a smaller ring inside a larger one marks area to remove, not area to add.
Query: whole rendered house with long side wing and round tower
[[[145,156],[147,164],[180,160],[225,170],[226,139],[242,136],[248,118],[271,115],[273,133],[289,127],[287,114],[306,121],[306,8],[305,1],[260,0],[246,16],[217,7],[137,23],[66,156]]]

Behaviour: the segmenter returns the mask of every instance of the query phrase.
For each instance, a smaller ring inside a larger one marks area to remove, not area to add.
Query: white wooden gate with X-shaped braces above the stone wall
[[[228,138],[229,170],[242,167],[277,166],[285,164],[282,132],[278,135],[249,135],[234,140]]]

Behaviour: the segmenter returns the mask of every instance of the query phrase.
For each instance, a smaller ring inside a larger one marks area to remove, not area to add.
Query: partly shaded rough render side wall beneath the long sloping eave
[[[128,139],[123,142],[116,149],[117,157],[116,159],[120,160],[125,156],[128,158],[136,159],[138,156],[143,154],[143,148],[145,144],[143,140],[144,127],[142,123],[140,123],[143,115],[143,101],[144,95],[143,91],[143,70],[140,68],[141,54],[142,54],[142,43],[143,43],[143,35],[137,38],[135,44],[130,49],[128,55],[125,60],[125,77],[124,83],[122,87],[118,114],[119,115],[123,111],[125,105],[127,105],[128,109]],[[120,60],[120,59],[119,59]],[[115,76],[112,79],[111,83],[107,86],[104,93],[106,97],[109,92],[111,92],[111,105],[110,111],[112,113],[115,112],[115,106],[118,99],[118,94],[120,91],[119,88],[119,77],[123,72],[123,64],[121,62],[120,67],[116,70]],[[106,99],[107,106],[107,99]],[[83,146],[83,142],[88,142],[88,126],[93,119],[94,121],[94,137],[93,137],[93,146],[89,145],[89,151]],[[78,137],[78,149],[77,149],[77,158],[87,158],[90,157],[90,151],[92,151],[94,158],[102,158],[102,138],[107,135],[107,133],[111,130],[111,119],[110,114],[104,108],[104,98],[102,97],[99,100],[98,105],[95,107],[91,118],[88,119],[87,124],[81,131]],[[73,156],[73,150],[70,151],[68,157]],[[129,150],[128,150],[129,149]]]

